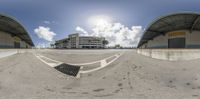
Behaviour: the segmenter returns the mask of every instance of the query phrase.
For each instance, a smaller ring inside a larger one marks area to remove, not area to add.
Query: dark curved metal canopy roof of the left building
[[[12,36],[18,36],[29,45],[34,46],[25,28],[16,19],[10,16],[0,14],[0,31],[10,33]]]

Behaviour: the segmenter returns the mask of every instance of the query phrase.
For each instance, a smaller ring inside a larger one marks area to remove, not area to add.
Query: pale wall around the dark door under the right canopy
[[[153,40],[149,40],[148,43],[143,45],[141,48],[168,48],[168,39],[176,37],[186,38],[186,48],[200,48],[200,31],[179,30],[173,32],[185,32],[185,35],[169,37],[166,35],[160,35],[155,37]]]

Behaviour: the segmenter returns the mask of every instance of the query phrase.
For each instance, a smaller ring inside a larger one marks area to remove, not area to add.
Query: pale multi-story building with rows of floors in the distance
[[[79,36],[70,34],[68,38],[56,41],[56,48],[105,48],[108,41],[104,37]]]

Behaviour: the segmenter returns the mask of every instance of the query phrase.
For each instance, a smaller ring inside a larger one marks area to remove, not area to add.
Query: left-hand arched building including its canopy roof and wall
[[[0,14],[0,48],[31,48],[33,46],[28,32],[16,19]]]

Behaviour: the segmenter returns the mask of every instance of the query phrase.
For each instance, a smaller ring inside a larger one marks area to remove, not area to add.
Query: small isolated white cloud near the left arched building
[[[46,41],[53,41],[53,38],[56,35],[56,33],[50,31],[49,27],[44,26],[39,26],[38,28],[34,29],[34,32],[39,38],[44,39]]]

